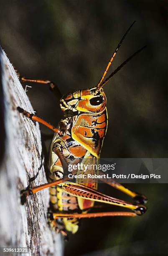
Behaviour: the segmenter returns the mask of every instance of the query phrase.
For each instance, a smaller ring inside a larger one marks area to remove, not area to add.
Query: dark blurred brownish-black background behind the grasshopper
[[[136,20],[109,74],[137,49],[148,47],[104,87],[109,125],[102,157],[163,158],[168,156],[167,7],[164,0],[0,0],[0,44],[20,74],[49,79],[66,94],[97,84]],[[33,108],[56,125],[62,118],[59,102],[47,86],[28,85]],[[66,243],[66,256],[167,254],[167,184],[130,187],[148,196],[148,212],[139,218],[82,221]],[[100,189],[128,200],[108,186]]]

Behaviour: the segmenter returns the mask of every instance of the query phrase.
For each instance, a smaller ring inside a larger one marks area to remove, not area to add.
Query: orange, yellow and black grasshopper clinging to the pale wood
[[[132,23],[132,25],[133,24],[134,23]],[[64,112],[64,119],[59,122],[59,128],[55,128],[38,116],[28,113],[26,110],[18,107],[20,113],[23,113],[27,118],[38,121],[55,132],[49,152],[48,184],[25,189],[22,191],[22,200],[24,201],[28,195],[49,187],[49,222],[52,228],[61,232],[64,236],[66,236],[66,230],[76,233],[79,228],[79,218],[137,216],[142,215],[146,211],[144,204],[147,202],[147,199],[145,196],[131,191],[114,180],[107,183],[132,197],[135,201],[134,203],[122,201],[98,192],[97,180],[95,179],[87,179],[84,183],[82,179],[79,178],[76,179],[76,182],[71,182],[67,175],[67,167],[69,163],[71,163],[72,166],[79,162],[84,164],[87,162],[97,163],[99,159],[104,136],[107,131],[107,100],[102,87],[130,59],[144,48],[136,51],[104,80],[109,66],[112,64],[112,61],[130,28],[128,28],[112,54],[98,84],[89,89],[76,90],[61,97],[60,107]],[[58,87],[48,80],[44,81],[24,77],[20,79],[24,82],[48,84],[56,96],[60,98],[61,93],[59,92]],[[87,172],[93,173],[93,171],[89,169]],[[82,172],[80,169],[73,169],[72,173],[79,174]],[[125,207],[132,210],[132,212],[89,212],[89,210],[94,207],[95,201]]]

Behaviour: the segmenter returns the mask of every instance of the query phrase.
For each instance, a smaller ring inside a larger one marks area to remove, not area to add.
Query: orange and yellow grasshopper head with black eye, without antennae
[[[60,100],[61,110],[82,113],[99,113],[106,107],[106,96],[102,88],[77,90],[64,95]]]

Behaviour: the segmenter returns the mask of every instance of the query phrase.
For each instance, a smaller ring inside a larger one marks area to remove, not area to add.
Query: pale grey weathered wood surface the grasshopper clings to
[[[29,179],[37,174],[41,166],[41,134],[38,123],[35,125],[17,110],[20,106],[33,112],[15,70],[2,49],[0,63],[0,246],[28,247],[30,255],[60,256],[61,237],[51,230],[47,222],[48,189],[29,197],[25,205],[20,204],[20,190],[28,186]],[[46,182],[42,165],[31,186]]]

